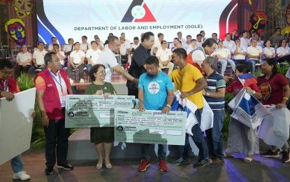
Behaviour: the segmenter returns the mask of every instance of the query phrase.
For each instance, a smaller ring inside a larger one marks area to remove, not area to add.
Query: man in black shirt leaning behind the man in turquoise
[[[145,60],[150,57],[150,50],[154,44],[154,34],[151,31],[146,32],[141,38],[141,44],[134,50],[129,69],[129,74],[134,78],[139,78],[141,74],[147,71]],[[135,95],[138,98],[138,87],[136,83],[127,80],[128,95]]]

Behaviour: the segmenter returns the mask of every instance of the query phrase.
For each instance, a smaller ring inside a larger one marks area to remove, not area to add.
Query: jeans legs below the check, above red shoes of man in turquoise
[[[141,144],[142,160],[150,162],[150,144]],[[166,159],[166,145],[158,144],[158,161]]]

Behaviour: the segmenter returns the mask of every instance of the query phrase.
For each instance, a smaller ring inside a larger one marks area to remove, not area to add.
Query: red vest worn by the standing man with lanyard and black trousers
[[[59,70],[61,77],[64,78],[66,82],[66,87],[68,88],[68,94],[71,94],[71,84],[68,80],[68,75],[66,71],[63,69]],[[64,118],[64,114],[61,111],[61,104],[59,98],[59,92],[57,91],[57,85],[55,85],[55,80],[53,80],[50,75],[50,71],[45,69],[37,74],[37,76],[41,76],[45,81],[46,90],[43,94],[43,103],[45,107],[45,111],[48,114],[48,118],[50,119],[61,119]],[[34,78],[34,84],[37,76]]]

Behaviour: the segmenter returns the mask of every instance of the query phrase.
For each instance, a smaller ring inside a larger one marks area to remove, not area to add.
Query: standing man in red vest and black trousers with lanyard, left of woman
[[[34,78],[34,84],[46,137],[45,175],[50,175],[55,162],[58,168],[73,169],[73,166],[66,161],[70,130],[64,127],[66,94],[71,94],[71,85],[66,71],[59,69],[60,60],[55,52],[47,53],[44,61],[47,69],[38,73]],[[57,148],[57,160],[55,148]]]

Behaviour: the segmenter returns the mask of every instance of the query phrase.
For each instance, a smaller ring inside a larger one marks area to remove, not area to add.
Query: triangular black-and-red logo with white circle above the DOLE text
[[[143,0],[133,0],[121,22],[156,22]]]

